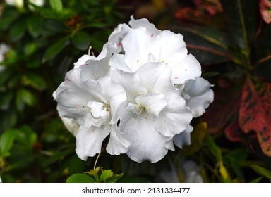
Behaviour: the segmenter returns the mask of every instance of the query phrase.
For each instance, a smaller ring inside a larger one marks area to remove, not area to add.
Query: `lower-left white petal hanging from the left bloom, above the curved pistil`
[[[76,134],[76,153],[81,160],[87,160],[101,152],[102,141],[109,135],[109,127],[81,126]]]

